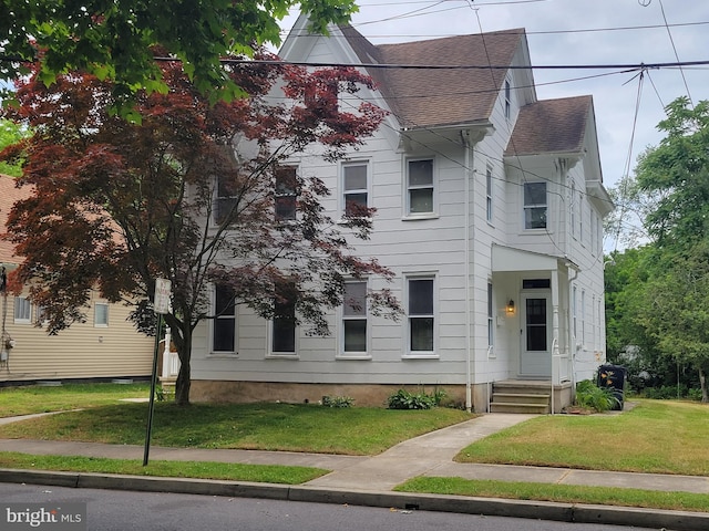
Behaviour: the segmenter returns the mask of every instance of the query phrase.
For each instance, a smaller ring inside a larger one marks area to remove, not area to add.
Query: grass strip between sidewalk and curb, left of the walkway
[[[150,461],[93,457],[31,456],[0,452],[0,468],[23,470],[61,470],[70,472],[157,476],[163,478],[224,479],[267,483],[300,485],[328,473],[329,470],[276,465],[240,465],[208,461]]]

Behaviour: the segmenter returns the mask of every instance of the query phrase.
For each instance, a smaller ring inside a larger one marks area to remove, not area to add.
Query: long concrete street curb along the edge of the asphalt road
[[[0,469],[0,482],[56,487],[172,492],[183,494],[261,498],[350,506],[399,508],[422,511],[530,518],[558,522],[666,528],[675,531],[706,531],[709,513],[662,511],[609,506],[502,500],[464,496],[407,492],[347,491],[308,486],[255,483],[191,478],[158,478],[106,473]]]

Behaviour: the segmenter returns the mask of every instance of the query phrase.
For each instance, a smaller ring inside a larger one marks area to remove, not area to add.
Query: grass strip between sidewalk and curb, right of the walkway
[[[620,489],[616,487],[582,487],[574,485],[419,477],[407,481],[394,490],[400,492],[709,512],[709,497],[707,494]]]

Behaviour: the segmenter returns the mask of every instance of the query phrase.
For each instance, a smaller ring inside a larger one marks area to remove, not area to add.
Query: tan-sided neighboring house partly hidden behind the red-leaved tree
[[[29,196],[14,179],[0,175],[0,233],[12,205]],[[0,261],[12,271],[21,258],[13,244],[0,237]],[[150,376],[154,342],[140,334],[126,319],[130,308],[112,304],[92,293],[86,322],[74,323],[58,335],[37,326],[42,309],[24,294],[0,293],[0,386],[20,381],[126,378]]]

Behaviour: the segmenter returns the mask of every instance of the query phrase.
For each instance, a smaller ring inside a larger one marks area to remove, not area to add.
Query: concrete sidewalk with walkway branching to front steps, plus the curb
[[[465,446],[487,435],[522,423],[532,415],[514,414],[486,414],[462,424],[450,426],[423,436],[403,441],[393,448],[373,457],[333,456],[321,454],[297,454],[285,451],[258,451],[258,450],[219,450],[197,448],[161,448],[152,447],[151,460],[189,460],[189,461],[217,461],[243,462],[257,465],[292,465],[304,467],[317,467],[331,470],[330,473],[314,479],[301,487],[268,486],[269,494],[274,494],[280,488],[285,499],[308,499],[309,501],[330,501],[351,504],[374,504],[381,507],[415,507],[422,504],[431,510],[449,510],[441,508],[453,503],[455,511],[483,512],[493,514],[502,511],[504,516],[525,516],[530,518],[545,518],[544,514],[552,511],[552,520],[569,519],[579,521],[583,518],[582,506],[564,503],[544,503],[525,501],[503,501],[463,498],[463,497],[434,497],[427,494],[394,493],[392,489],[409,478],[417,476],[461,477],[465,479],[496,479],[503,481],[532,481],[559,485],[620,487],[659,491],[684,491],[695,493],[709,493],[709,478],[692,476],[664,476],[654,473],[628,473],[613,471],[573,470],[564,468],[540,468],[501,465],[458,464],[452,459]],[[25,417],[27,418],[27,417]],[[17,418],[0,419],[1,424],[17,420]],[[63,442],[48,440],[11,440],[0,439],[0,451],[19,451],[39,455],[66,455],[85,457],[109,457],[116,459],[142,459],[142,446],[102,445],[93,442]],[[17,481],[20,478],[25,482],[40,482],[32,480],[32,472],[18,476],[18,471],[0,470],[1,481]],[[42,472],[37,479],[51,479],[52,473]],[[91,485],[100,476],[101,485],[111,483],[109,475],[78,475],[73,472],[56,472],[55,476],[71,485],[76,478],[75,486],[86,486],[88,477],[93,477]],[[83,479],[79,478],[82,476]],[[72,479],[69,479],[72,478]],[[126,488],[129,490],[175,490],[177,486],[193,485],[204,489],[205,483],[212,483],[208,492],[214,492],[215,486],[228,486],[234,482],[204,481],[204,480],[174,480],[158,478],[135,478],[133,482],[126,482],[123,477],[123,487],[104,486],[103,488]],[[250,489],[245,489],[239,483],[238,494],[261,497],[266,486],[250,483]],[[275,490],[274,490],[275,489]],[[228,489],[227,489],[228,490]],[[182,490],[179,490],[182,491]],[[230,494],[235,496],[235,494]],[[280,494],[277,494],[280,496]],[[314,497],[316,499],[311,499]],[[305,498],[304,498],[305,497]],[[409,500],[409,501],[405,501]],[[414,501],[411,501],[414,500]],[[433,503],[433,500],[435,503]],[[448,504],[445,502],[448,500]],[[423,503],[425,501],[425,503]],[[466,503],[464,503],[466,502]],[[477,503],[477,504],[476,504]],[[464,508],[463,506],[467,506]],[[651,528],[665,527],[667,529],[709,529],[709,514],[686,513],[676,511],[648,511],[627,508],[599,508],[593,507],[588,517],[596,523],[619,523],[631,525],[646,525]],[[491,512],[492,511],[492,512]],[[606,514],[599,517],[599,514]],[[595,514],[595,516],[593,516]],[[643,517],[641,514],[646,514]],[[665,521],[664,519],[669,519]],[[661,523],[661,525],[660,525]]]

